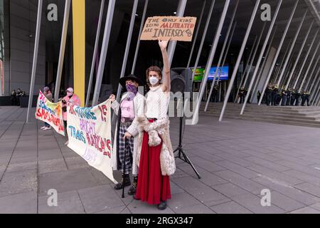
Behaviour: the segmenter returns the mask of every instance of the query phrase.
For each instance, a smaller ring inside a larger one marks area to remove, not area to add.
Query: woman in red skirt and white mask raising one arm
[[[166,200],[171,199],[169,175],[176,169],[167,116],[170,98],[170,68],[166,52],[168,42],[159,41],[164,77],[157,66],[146,70],[150,90],[146,94],[145,117],[138,120],[143,131],[138,142],[141,150],[137,153],[139,178],[134,199],[157,204],[159,209],[166,209]]]

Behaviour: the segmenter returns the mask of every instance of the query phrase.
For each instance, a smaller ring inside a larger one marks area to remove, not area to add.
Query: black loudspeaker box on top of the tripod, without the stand
[[[192,92],[192,71],[190,68],[171,68],[171,92]]]

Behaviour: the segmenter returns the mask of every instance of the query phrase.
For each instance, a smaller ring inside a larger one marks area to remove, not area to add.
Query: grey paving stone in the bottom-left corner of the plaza
[[[0,197],[0,214],[36,214],[37,192],[23,192]]]

